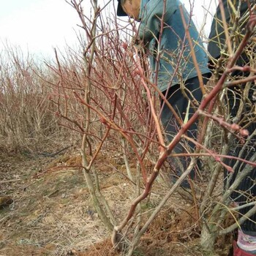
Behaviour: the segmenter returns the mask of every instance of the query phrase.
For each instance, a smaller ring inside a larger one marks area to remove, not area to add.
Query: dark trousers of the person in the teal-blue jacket
[[[204,84],[207,83],[208,78],[210,78],[210,76],[211,76],[211,73],[203,75]],[[192,102],[195,102],[195,99],[196,99],[196,101],[200,104],[203,96],[200,90],[199,81],[197,77],[188,79],[184,84],[184,87],[186,88],[186,90],[181,90],[180,85],[175,85],[175,86],[171,86],[167,92],[166,91],[163,92],[163,94],[166,95],[165,97],[168,100],[168,102],[170,102],[170,105],[172,105],[176,113],[178,113],[178,116],[180,116],[180,118],[183,121],[186,118],[191,118],[191,116],[195,113],[196,108],[192,107]],[[192,99],[192,95],[194,99]],[[174,136],[178,133],[180,126],[178,125],[176,118],[173,116],[172,111],[168,108],[168,106],[163,101],[161,101],[161,106],[162,106],[162,113],[161,113],[162,126],[165,129],[165,135],[166,135],[167,141],[170,142],[173,140]],[[192,124],[192,126],[189,128],[189,131],[187,131],[187,135],[189,136],[189,138],[193,138],[196,140],[197,129],[198,129],[197,124],[198,122]],[[181,153],[192,152],[194,150],[195,150],[194,143],[187,140],[182,140],[181,143],[178,143],[178,145],[173,149],[173,153],[181,154]],[[191,159],[189,157],[168,157],[167,162],[170,165],[170,169],[171,169],[171,172],[170,172],[171,182],[176,181],[176,178],[181,176],[181,173],[183,173],[184,170],[187,170],[190,160]],[[189,175],[189,178],[195,179],[195,177],[196,177],[196,171],[192,170],[192,172]],[[189,187],[189,182],[184,181],[183,184],[181,184],[181,186]]]

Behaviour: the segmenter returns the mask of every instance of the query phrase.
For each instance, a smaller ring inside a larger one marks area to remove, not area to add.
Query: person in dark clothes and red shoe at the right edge
[[[225,10],[225,22],[227,23],[227,28],[229,33],[232,33],[232,29],[234,24],[237,22],[235,10],[237,13],[240,13],[241,19],[238,22],[237,33],[241,37],[241,34],[244,34],[246,31],[245,26],[246,22],[244,22],[244,18],[249,14],[249,4],[251,7],[255,4],[255,0],[244,1],[239,4],[240,1],[227,1],[222,0],[222,4]],[[248,17],[248,16],[247,16]],[[239,31],[240,30],[240,31]],[[233,47],[236,49],[238,46],[239,37],[233,37]],[[220,5],[217,7],[217,12],[214,16],[214,20],[211,24],[211,32],[209,34],[209,43],[208,43],[208,53],[210,53],[211,58],[209,59],[209,66],[214,70],[217,67],[217,61],[222,60],[222,63],[225,65],[225,56],[227,56],[226,50],[226,37],[225,37],[225,29],[222,21],[222,14]],[[255,51],[249,49],[247,53],[253,53],[255,55]],[[250,65],[250,57],[247,55],[246,51],[242,53],[236,65],[240,67],[244,67],[245,65]],[[218,65],[220,66],[220,62]],[[221,73],[221,68],[219,68]],[[222,68],[223,71],[223,68]],[[230,80],[232,79],[241,79],[249,75],[249,72],[242,72],[240,70],[236,70],[230,74]],[[246,97],[245,84],[241,84],[239,86],[230,88],[227,90],[227,107],[229,110],[229,118],[231,122],[236,122],[240,124],[242,127],[246,127],[248,129],[249,134],[251,135],[246,141],[247,146],[243,148],[239,140],[236,138],[231,138],[230,143],[230,152],[228,153],[231,156],[241,157],[243,159],[252,159],[255,157],[255,148],[256,148],[256,136],[253,135],[255,132],[256,123],[255,123],[255,91],[256,86],[255,83],[252,82],[249,91],[248,97]],[[241,115],[239,116],[239,113]],[[252,161],[252,160],[251,160]],[[236,161],[234,159],[227,160],[225,162],[230,167],[233,167],[234,173],[225,172],[225,189],[229,188],[233,182],[236,180],[238,175],[245,170],[249,165],[245,165],[242,162]],[[236,191],[233,191],[231,198],[236,202],[237,205],[242,206],[250,201],[255,201],[256,196],[256,168],[251,167],[251,171],[249,174],[240,182],[238,187],[236,187]],[[244,216],[251,207],[245,207],[239,210],[240,214]],[[241,228],[238,229],[238,240],[234,242],[233,249],[234,256],[249,256],[256,255],[256,214],[253,214],[252,217],[246,219],[246,221],[241,225]]]

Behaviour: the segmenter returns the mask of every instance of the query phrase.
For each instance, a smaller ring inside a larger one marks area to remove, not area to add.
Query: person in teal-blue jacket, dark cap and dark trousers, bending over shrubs
[[[165,4],[165,15],[162,15],[164,10],[164,1],[162,0],[118,0],[117,15],[129,15],[129,17],[140,21],[138,37],[148,50],[153,80],[157,80],[160,91],[184,121],[195,113],[203,94],[200,89],[197,69],[192,59],[192,50],[182,22],[182,13],[189,28],[197,67],[203,76],[203,84],[207,83],[211,72],[207,66],[208,58],[200,35],[184,5],[178,0],[167,0]],[[160,29],[161,20],[164,23],[162,31]],[[160,34],[162,35],[159,36]],[[161,53],[159,53],[159,49]],[[158,59],[159,54],[161,55],[160,59]],[[161,107],[162,127],[165,129],[167,141],[170,142],[181,126],[163,99],[161,99]],[[197,137],[197,123],[192,124],[187,135],[194,139]],[[194,143],[183,140],[173,151],[180,154],[194,149]],[[187,170],[189,165],[189,159],[186,157],[169,157],[167,162],[172,170],[170,175],[172,180]],[[189,177],[194,179],[195,175],[195,170],[192,170]],[[184,181],[182,187],[189,187],[189,181]]]

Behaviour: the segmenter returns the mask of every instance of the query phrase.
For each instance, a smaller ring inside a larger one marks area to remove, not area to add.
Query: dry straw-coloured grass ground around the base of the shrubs
[[[118,220],[124,217],[134,196],[132,184],[121,174],[124,163],[120,158],[106,152],[98,165],[102,192]],[[113,251],[109,233],[94,212],[79,168],[60,168],[31,178],[49,167],[76,164],[80,164],[78,154],[53,159],[10,156],[0,151],[0,194],[13,200],[0,210],[1,256],[121,255]],[[161,197],[161,192],[152,194],[142,207],[151,212]],[[175,195],[143,236],[134,255],[203,255],[199,236],[192,206]],[[230,237],[227,239],[219,242],[219,255],[227,255],[226,246],[231,244]]]

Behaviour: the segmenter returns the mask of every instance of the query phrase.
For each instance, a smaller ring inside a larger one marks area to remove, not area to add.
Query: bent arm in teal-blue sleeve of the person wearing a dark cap
[[[164,22],[170,18],[171,15],[178,8],[178,1],[166,0]],[[163,0],[150,0],[146,5],[141,7],[141,23],[139,29],[140,40],[145,45],[154,37],[157,37],[160,31],[161,19],[164,10]]]

